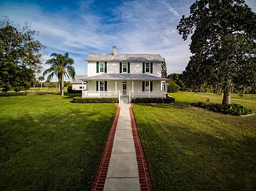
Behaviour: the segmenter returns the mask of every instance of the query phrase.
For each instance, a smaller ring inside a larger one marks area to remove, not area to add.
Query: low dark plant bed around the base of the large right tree
[[[234,114],[236,116],[253,113],[250,108],[246,108],[239,104],[211,104],[211,103],[192,103],[191,106],[209,109],[214,112],[221,112],[226,114]]]

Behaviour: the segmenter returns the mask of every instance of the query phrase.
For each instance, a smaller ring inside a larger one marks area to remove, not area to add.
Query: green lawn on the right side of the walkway
[[[190,108],[214,94],[177,92],[175,104],[135,104],[133,111],[154,190],[256,190],[256,117]],[[256,95],[232,103],[256,112]]]

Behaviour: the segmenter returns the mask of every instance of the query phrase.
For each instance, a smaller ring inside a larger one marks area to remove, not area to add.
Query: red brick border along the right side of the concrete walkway
[[[139,138],[139,133],[137,129],[137,125],[135,122],[134,114],[133,114],[133,104],[129,108],[130,116],[131,116],[131,129],[133,131],[133,140],[137,158],[137,165],[139,170],[139,184],[141,185],[142,190],[153,190],[150,175],[147,168],[146,158],[144,155],[143,147],[141,144],[141,139]]]

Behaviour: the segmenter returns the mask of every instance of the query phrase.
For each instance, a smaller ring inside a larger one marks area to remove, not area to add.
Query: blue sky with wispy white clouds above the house
[[[44,62],[53,52],[68,52],[77,75],[87,74],[88,53],[112,53],[112,46],[117,46],[117,53],[161,54],[171,74],[185,70],[191,56],[190,41],[182,40],[176,26],[182,15],[188,16],[193,2],[1,0],[0,15],[14,23],[31,22],[40,32],[36,39],[47,46]],[[246,3],[256,12],[255,0]]]

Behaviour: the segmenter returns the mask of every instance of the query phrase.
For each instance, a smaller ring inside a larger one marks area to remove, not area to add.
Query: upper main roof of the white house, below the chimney
[[[163,62],[160,54],[88,54],[85,61]]]

